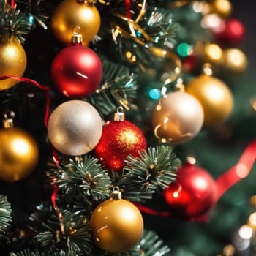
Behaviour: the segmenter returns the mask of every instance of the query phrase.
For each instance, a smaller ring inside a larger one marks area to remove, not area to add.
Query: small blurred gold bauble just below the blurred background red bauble
[[[230,48],[224,50],[223,65],[227,71],[241,74],[247,68],[246,55],[237,48]]]

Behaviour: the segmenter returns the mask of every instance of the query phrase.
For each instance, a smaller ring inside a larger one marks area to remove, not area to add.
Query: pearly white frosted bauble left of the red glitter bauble
[[[50,143],[62,154],[78,156],[91,151],[102,135],[97,110],[82,100],[69,100],[51,113],[48,121]]]

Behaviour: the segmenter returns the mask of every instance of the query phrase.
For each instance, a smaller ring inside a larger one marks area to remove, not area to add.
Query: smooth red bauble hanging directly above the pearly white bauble
[[[102,79],[102,61],[94,50],[72,45],[59,51],[51,65],[56,88],[67,97],[87,97]]]

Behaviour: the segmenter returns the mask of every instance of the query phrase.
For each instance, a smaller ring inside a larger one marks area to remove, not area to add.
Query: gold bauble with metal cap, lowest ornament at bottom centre
[[[121,199],[114,187],[110,199],[100,203],[91,215],[90,225],[95,244],[105,252],[127,252],[143,235],[143,217],[138,208]]]

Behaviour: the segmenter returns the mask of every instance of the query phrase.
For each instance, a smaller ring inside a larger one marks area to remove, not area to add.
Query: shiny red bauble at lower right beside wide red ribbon
[[[215,203],[214,178],[195,164],[187,163],[177,171],[176,181],[165,190],[170,214],[183,219],[203,217]]]

